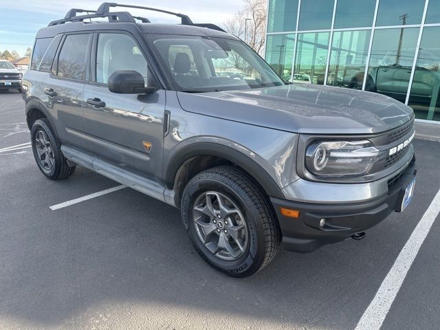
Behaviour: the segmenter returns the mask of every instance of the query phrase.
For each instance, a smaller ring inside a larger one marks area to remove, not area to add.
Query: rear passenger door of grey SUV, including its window
[[[89,33],[67,34],[58,47],[52,71],[43,81],[45,106],[52,113],[56,129],[65,145],[84,147],[83,91],[88,78],[87,57],[91,49]]]

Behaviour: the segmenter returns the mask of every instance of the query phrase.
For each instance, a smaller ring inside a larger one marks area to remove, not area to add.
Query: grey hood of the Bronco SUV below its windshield
[[[177,96],[186,111],[294,133],[380,133],[414,117],[410,107],[393,98],[319,85]]]

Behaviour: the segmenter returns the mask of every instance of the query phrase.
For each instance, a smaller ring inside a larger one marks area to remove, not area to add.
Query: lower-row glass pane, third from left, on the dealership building
[[[327,85],[362,89],[371,31],[333,33]]]

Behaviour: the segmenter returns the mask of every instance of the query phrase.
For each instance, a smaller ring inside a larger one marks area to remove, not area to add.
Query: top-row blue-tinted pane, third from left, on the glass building
[[[373,25],[376,1],[338,0],[335,28],[364,28]]]

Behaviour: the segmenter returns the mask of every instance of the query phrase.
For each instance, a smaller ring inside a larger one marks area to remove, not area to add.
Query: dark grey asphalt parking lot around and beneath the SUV
[[[439,142],[415,140],[411,206],[364,240],[282,251],[259,274],[234,279],[195,253],[179,210],[135,190],[51,210],[119,184],[85,168],[45,179],[23,108],[20,94],[0,92],[0,329],[378,329],[357,325],[377,314],[380,288],[397,290],[381,329],[439,329],[438,212],[426,239],[415,235],[421,248],[406,245],[438,207]]]

